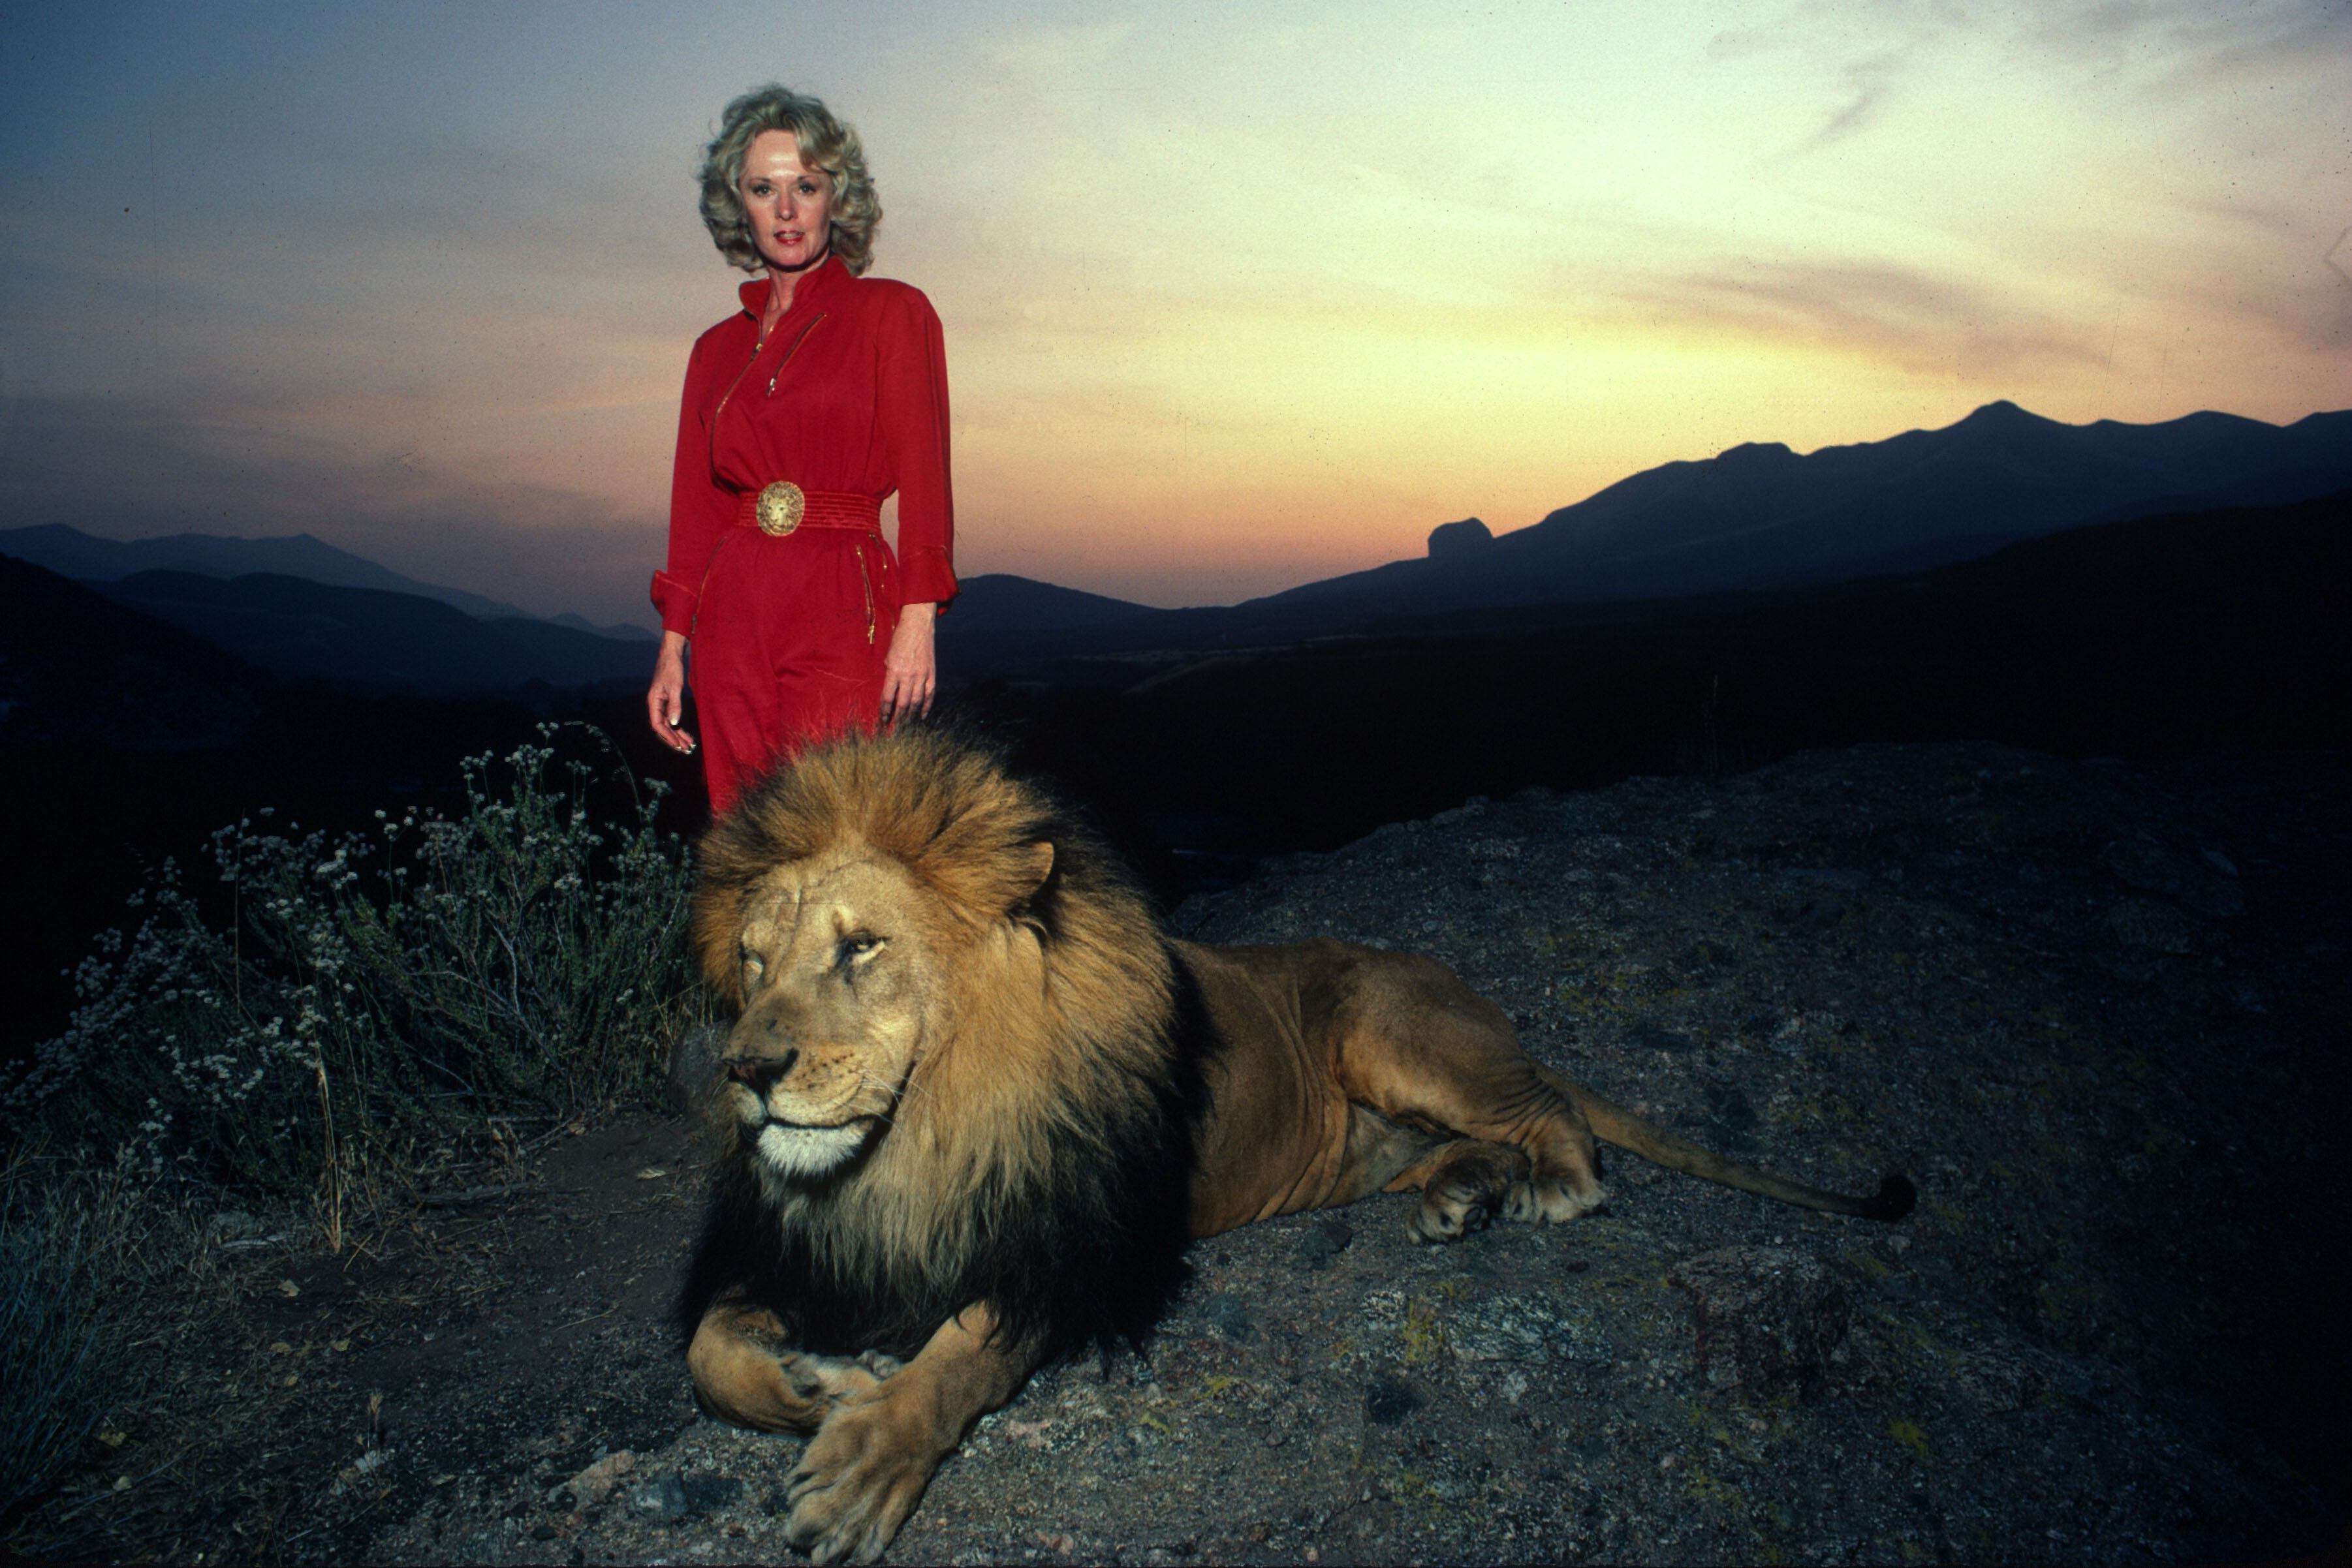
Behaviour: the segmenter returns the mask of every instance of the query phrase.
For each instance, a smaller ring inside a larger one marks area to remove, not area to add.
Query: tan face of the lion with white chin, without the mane
[[[776,1178],[837,1171],[889,1128],[938,994],[936,905],[887,858],[802,860],[746,903],[727,1103]]]

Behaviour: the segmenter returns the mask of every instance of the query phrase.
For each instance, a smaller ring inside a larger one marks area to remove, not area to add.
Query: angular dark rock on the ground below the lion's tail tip
[[[1668,1279],[1698,1309],[1698,1366],[1710,1382],[1736,1382],[1748,1399],[1820,1392],[1853,1316],[1839,1269],[1778,1246],[1719,1246],[1684,1258]]]

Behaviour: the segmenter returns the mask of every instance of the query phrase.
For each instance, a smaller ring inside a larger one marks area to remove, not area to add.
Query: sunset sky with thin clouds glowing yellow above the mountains
[[[1018,16],[1018,19],[1014,19]],[[652,623],[720,106],[866,139],[957,567],[1211,604],[1628,473],[2352,407],[2352,7],[7,5],[0,527]]]

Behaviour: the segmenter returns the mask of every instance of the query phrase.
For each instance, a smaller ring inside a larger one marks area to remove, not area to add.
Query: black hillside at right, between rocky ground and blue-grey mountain
[[[1040,639],[950,708],[1018,736],[1080,799],[1122,802],[1127,844],[1145,842],[1131,853],[1183,886],[1468,795],[1738,771],[1816,745],[2343,748],[2347,595],[2340,491],[1851,583],[1395,616],[1150,656]]]

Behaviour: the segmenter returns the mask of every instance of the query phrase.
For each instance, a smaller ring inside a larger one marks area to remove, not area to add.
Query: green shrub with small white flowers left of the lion
[[[595,820],[612,743],[543,724],[473,757],[466,811],[379,816],[379,835],[212,835],[230,893],[205,919],[165,863],[75,973],[71,1027],[0,1093],[16,1131],[162,1175],[301,1190],[339,1140],[452,1121],[572,1117],[649,1088],[691,1006],[691,865],[654,830],[666,785],[628,778]]]

